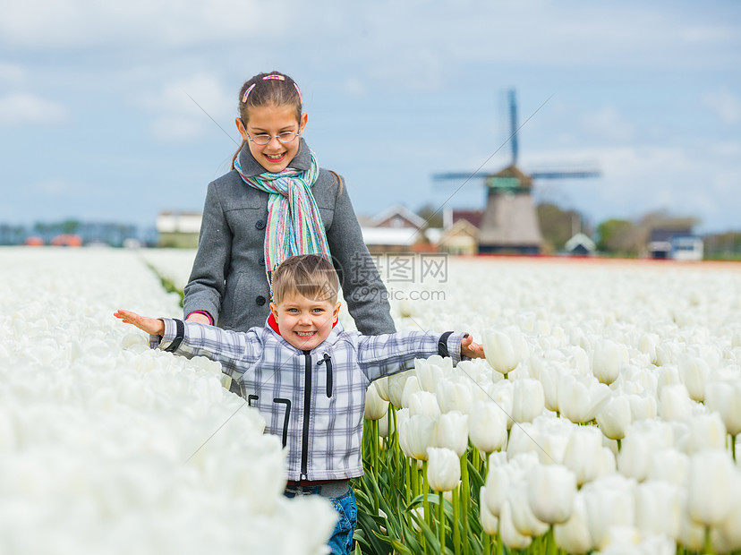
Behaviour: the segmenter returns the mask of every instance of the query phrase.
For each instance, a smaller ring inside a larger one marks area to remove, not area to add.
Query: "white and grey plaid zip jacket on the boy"
[[[433,354],[461,360],[463,333],[404,331],[362,336],[337,323],[311,351],[272,329],[246,332],[165,321],[158,348],[206,356],[237,380],[242,395],[288,448],[288,480],[340,480],[362,475],[365,390],[373,380]],[[156,341],[155,341],[156,343]]]

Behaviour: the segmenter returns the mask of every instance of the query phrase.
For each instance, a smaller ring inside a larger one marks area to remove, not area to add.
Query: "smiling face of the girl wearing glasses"
[[[252,156],[273,174],[282,172],[294,159],[298,152],[301,141],[296,137],[294,141],[283,144],[277,140],[282,132],[295,132],[301,134],[309,118],[305,113],[301,119],[296,121],[296,110],[292,106],[260,106],[250,108],[250,119],[247,128],[244,128],[242,119],[236,118],[237,129],[244,141],[250,144]],[[271,135],[268,144],[257,144],[250,141],[255,135]]]

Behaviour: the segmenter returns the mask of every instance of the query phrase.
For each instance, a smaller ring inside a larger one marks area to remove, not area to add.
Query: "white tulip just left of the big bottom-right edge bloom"
[[[680,488],[669,482],[643,482],[635,489],[635,525],[642,536],[677,539],[682,525]]]

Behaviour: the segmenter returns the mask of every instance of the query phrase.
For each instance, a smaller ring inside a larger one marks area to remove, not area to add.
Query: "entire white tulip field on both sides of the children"
[[[179,317],[193,255],[0,249],[0,553],[324,552],[218,363],[111,315]],[[388,279],[396,327],[486,359],[371,385],[356,553],[741,553],[740,265],[446,264]]]

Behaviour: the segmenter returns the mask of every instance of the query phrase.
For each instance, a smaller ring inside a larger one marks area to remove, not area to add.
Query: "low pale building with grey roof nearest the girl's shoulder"
[[[371,253],[429,250],[425,220],[404,206],[392,206],[360,222],[362,240]]]

